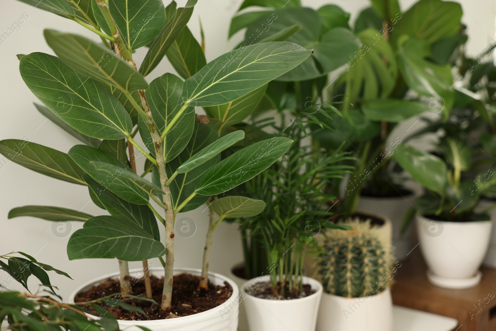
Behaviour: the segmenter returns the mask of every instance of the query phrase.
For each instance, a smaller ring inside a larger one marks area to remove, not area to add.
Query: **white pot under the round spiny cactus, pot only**
[[[393,331],[393,301],[389,288],[362,298],[323,293],[316,331]]]

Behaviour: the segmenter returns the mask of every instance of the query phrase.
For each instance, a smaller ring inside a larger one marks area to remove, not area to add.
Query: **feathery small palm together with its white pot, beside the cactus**
[[[330,222],[326,203],[333,197],[322,189],[331,178],[350,171],[339,164],[348,156],[339,151],[327,155],[306,145],[306,126],[300,118],[277,126],[294,144],[282,160],[244,186],[247,195],[266,202],[263,212],[240,220],[241,227],[250,229],[249,236],[261,238],[268,262],[262,276],[241,286],[250,330],[314,330],[322,287],[304,276],[305,254],[318,250],[314,237],[320,230],[347,228]]]

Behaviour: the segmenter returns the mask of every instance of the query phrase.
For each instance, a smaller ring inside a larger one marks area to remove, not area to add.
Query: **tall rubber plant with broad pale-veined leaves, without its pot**
[[[70,260],[159,257],[165,271],[161,308],[168,310],[176,215],[253,178],[292,142],[287,137],[264,139],[220,160],[221,151],[245,133],[219,137],[213,122],[195,116],[195,107],[222,112],[247,102],[269,81],[304,63],[312,51],[294,42],[272,41],[238,48],[206,64],[186,27],[196,0],[180,8],[174,1],[166,8],[161,0],[22,1],[74,20],[103,44],[45,30],[57,57],[39,52],[18,56],[23,80],[46,106],[39,110],[84,144],[66,154],[7,139],[0,142],[0,151],[39,173],[87,185],[93,201],[111,215],[24,206],[13,209],[10,216],[85,221],[69,239]],[[148,51],[138,67],[133,52],[144,46]],[[165,55],[185,80],[165,73],[148,83],[144,77]],[[135,141],[138,132],[148,151]],[[147,159],[143,175],[136,173],[134,149]],[[144,178],[150,171],[151,181]],[[219,199],[211,207],[224,219],[233,215],[228,204],[246,202],[245,197],[229,203]],[[162,241],[157,218],[165,227]],[[209,229],[214,227],[211,222]],[[125,272],[125,266],[121,269]]]

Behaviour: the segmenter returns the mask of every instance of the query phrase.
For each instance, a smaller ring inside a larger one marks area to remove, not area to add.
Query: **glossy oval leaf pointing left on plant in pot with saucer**
[[[446,164],[440,158],[405,145],[396,146],[393,157],[420,185],[441,196],[445,195]]]

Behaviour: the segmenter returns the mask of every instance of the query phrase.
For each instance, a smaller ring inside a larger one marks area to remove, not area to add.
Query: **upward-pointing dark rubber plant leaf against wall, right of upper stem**
[[[167,51],[167,58],[174,69],[187,79],[207,64],[200,44],[185,26]]]

